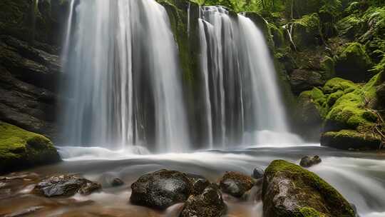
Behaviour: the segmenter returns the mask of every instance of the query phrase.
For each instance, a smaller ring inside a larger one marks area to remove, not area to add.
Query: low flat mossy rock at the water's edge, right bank
[[[376,150],[381,148],[381,136],[354,130],[329,131],[322,134],[321,145],[344,150]]]

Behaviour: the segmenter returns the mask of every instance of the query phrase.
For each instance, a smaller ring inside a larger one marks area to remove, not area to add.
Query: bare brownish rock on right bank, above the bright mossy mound
[[[294,94],[300,94],[302,91],[308,91],[314,87],[323,86],[325,81],[322,79],[322,75],[317,71],[294,69],[290,75],[290,84]]]

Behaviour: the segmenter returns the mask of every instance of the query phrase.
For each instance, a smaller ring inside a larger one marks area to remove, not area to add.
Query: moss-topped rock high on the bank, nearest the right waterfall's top
[[[294,21],[292,40],[299,50],[322,44],[321,24],[318,14],[303,16]]]

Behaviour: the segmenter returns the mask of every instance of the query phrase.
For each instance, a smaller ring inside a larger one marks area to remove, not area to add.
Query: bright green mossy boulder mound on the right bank
[[[383,74],[366,84],[354,84],[334,78],[322,87],[299,95],[299,118],[312,123],[322,118],[323,146],[342,149],[377,149],[381,147],[384,123]]]

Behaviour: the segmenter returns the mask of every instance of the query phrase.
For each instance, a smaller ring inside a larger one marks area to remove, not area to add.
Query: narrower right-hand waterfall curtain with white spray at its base
[[[200,61],[207,128],[214,137],[209,143],[299,142],[288,133],[262,31],[249,18],[230,16],[221,6],[201,10]]]

